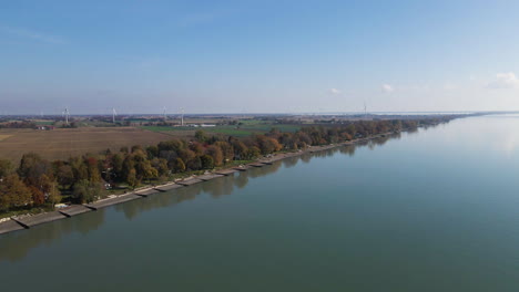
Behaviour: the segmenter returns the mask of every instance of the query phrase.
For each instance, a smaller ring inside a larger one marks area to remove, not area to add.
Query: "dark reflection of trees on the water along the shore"
[[[253,167],[247,171],[235,173],[232,176],[213,179],[206,182],[192,185],[173,189],[163,194],[156,194],[147,198],[130,201],[122,205],[115,205],[113,208],[100,209],[98,211],[80,215],[78,217],[58,220],[31,228],[3,234],[0,237],[0,261],[18,261],[23,259],[28,252],[41,244],[51,244],[62,237],[79,232],[86,234],[96,230],[104,221],[105,212],[115,210],[124,213],[128,220],[135,219],[140,213],[157,208],[169,208],[186,200],[194,200],[196,196],[208,194],[212,198],[218,199],[231,194],[240,194],[236,189],[244,188],[251,179],[274,174],[282,167],[291,168],[296,166],[299,160],[307,164],[313,157],[330,157],[337,153],[349,156],[355,155],[357,147],[368,146],[374,148],[384,145],[389,138],[399,138],[399,135],[386,136],[378,139],[363,142],[357,145],[346,145],[313,154],[306,153],[301,156],[289,157],[273,165],[264,167]]]

